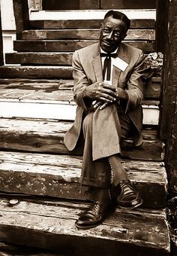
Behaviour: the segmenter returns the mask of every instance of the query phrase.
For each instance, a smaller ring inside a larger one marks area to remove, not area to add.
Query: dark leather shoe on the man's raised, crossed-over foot
[[[119,206],[123,209],[134,209],[141,206],[143,200],[139,197],[139,193],[132,187],[130,181],[120,182],[121,194],[118,196]]]

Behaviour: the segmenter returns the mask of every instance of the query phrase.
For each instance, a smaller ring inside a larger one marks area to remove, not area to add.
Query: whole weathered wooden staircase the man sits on
[[[31,29],[14,41],[17,53],[6,54],[8,65],[0,68],[1,245],[26,245],[51,255],[169,255],[158,77],[145,85],[143,145],[122,142],[122,163],[144,200],[142,208],[117,207],[91,230],[74,226],[90,198],[78,182],[81,153],[71,154],[63,142],[76,111],[71,60],[74,50],[98,41],[100,25],[101,20],[32,20]],[[154,20],[132,20],[127,44],[153,52],[154,25]],[[10,207],[10,199],[19,201]]]

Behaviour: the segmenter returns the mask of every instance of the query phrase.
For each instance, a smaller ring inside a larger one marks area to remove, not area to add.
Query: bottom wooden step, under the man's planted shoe
[[[0,239],[75,255],[169,255],[169,230],[163,211],[116,209],[104,224],[77,230],[74,223],[88,205],[21,200],[0,201]]]

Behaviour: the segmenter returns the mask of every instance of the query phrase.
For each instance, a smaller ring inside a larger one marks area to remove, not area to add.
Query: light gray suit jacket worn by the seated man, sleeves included
[[[122,105],[135,126],[133,140],[136,142],[141,136],[142,129],[142,98],[144,74],[143,53],[135,47],[121,43],[118,47],[118,57],[128,63],[127,69],[122,72],[113,66],[113,85],[127,91],[127,105]],[[100,44],[92,44],[76,50],[73,56],[74,100],[77,102],[77,116],[73,126],[65,134],[65,145],[72,151],[77,145],[83,123],[83,113],[87,109],[83,99],[83,90],[96,81],[103,81],[103,71],[100,56]]]

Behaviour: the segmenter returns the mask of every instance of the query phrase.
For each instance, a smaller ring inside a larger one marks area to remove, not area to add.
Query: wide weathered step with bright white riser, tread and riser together
[[[52,80],[0,80],[0,116],[48,118],[74,120],[77,105],[73,99],[73,81]],[[154,84],[155,85],[155,84]],[[153,93],[156,86],[149,84]],[[160,92],[160,87],[158,88]],[[155,96],[155,95],[154,95]],[[156,94],[157,96],[157,94]],[[148,98],[147,98],[148,99]],[[144,124],[157,125],[159,119],[159,102],[145,99],[142,105]],[[156,99],[156,98],[154,98]]]

